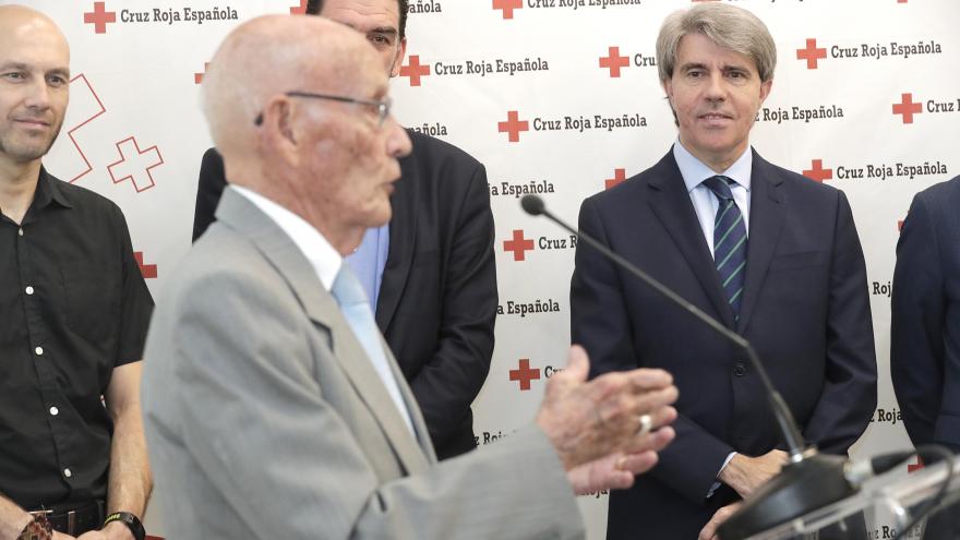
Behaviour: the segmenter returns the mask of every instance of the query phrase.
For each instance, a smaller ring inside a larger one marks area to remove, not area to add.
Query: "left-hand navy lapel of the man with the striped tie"
[[[649,182],[656,193],[650,196],[653,214],[663,223],[676,248],[683,253],[691,271],[704,288],[715,312],[728,327],[733,326],[733,311],[723,298],[720,276],[713,266],[713,255],[704,239],[704,231],[691,203],[686,184],[671,151],[656,165],[657,173]]]

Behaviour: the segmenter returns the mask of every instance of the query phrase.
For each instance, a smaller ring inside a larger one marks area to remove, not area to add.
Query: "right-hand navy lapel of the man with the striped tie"
[[[756,151],[751,170],[749,237],[746,249],[746,281],[736,332],[743,333],[756,307],[773,249],[783,228],[783,202],[780,185],[783,178]]]

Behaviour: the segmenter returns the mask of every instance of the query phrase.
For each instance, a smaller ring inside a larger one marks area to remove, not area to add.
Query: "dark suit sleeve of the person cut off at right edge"
[[[943,263],[929,212],[915,197],[897,242],[890,375],[914,445],[934,441],[944,389]]]

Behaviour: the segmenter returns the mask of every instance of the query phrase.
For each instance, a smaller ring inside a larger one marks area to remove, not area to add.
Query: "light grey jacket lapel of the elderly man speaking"
[[[407,430],[406,422],[400,418],[400,411],[397,410],[387,394],[386,387],[370,359],[367,358],[367,353],[353,335],[353,331],[340,314],[339,305],[323,288],[313,266],[300,249],[255,204],[229,187],[224,191],[216,214],[217,219],[224,225],[248,237],[256,245],[257,250],[289,284],[307,315],[314,323],[329,331],[334,358],[347,374],[357,395],[380,423],[400,464],[407,471],[423,470],[428,465],[427,456],[429,454],[421,451],[417,441]],[[394,365],[396,361],[389,353],[389,349],[384,347],[384,350],[392,364],[394,376],[397,377],[397,383],[403,391],[406,388],[403,374]],[[415,427],[417,427],[418,418],[422,425],[422,418],[420,418],[419,410],[416,409],[416,404],[411,406],[412,401],[406,395],[405,400],[407,408],[410,409]],[[418,436],[422,435],[418,433]]]

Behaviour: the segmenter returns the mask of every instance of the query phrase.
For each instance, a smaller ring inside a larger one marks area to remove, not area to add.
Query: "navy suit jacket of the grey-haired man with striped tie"
[[[863,251],[843,193],[756,153],[746,284],[737,321],[680,169],[652,168],[580,207],[580,228],[749,339],[807,442],[843,454],[876,407],[876,357]],[[706,499],[731,452],[782,448],[767,396],[745,356],[650,287],[580,243],[571,287],[574,343],[591,375],[670,371],[680,398],[675,441],[650,473],[611,494],[609,539],[694,539],[736,499]]]

